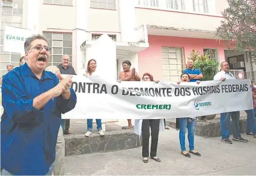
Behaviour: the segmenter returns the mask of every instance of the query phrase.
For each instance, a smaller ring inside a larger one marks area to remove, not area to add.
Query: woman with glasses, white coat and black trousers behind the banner
[[[142,76],[142,81],[154,81],[153,76],[149,73],[144,73]],[[159,81],[156,81],[158,83]],[[161,160],[157,158],[157,144],[159,131],[165,129],[165,123],[163,119],[143,119],[135,120],[135,130],[134,132],[138,135],[142,134],[142,157],[143,163],[148,163],[149,157],[149,137],[151,129],[151,149],[150,149],[150,158],[160,162]]]

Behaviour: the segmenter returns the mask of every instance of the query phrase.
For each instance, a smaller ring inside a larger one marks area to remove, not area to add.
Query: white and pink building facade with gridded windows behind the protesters
[[[227,51],[215,36],[226,7],[226,0],[5,0],[1,70],[6,73],[9,62],[18,66],[21,56],[2,51],[7,24],[43,34],[53,49],[49,65],[60,64],[62,54],[68,54],[78,74],[96,56],[90,47],[101,34],[108,34],[116,44],[116,57],[105,58],[111,64],[95,59],[105,64],[102,73],[115,70],[115,79],[122,61],[130,60],[140,75],[149,72],[156,80],[176,82],[192,50],[219,62],[240,62],[234,69],[253,71],[255,66],[245,53]]]

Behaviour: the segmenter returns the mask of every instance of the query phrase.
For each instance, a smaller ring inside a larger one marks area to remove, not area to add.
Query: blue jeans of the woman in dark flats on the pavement
[[[188,143],[189,143],[189,150],[194,150],[194,130],[195,130],[195,119],[192,119],[191,122],[188,122],[189,118],[179,118],[180,121],[180,148],[182,151],[186,151],[185,146],[185,136],[186,136],[186,127],[188,126]]]

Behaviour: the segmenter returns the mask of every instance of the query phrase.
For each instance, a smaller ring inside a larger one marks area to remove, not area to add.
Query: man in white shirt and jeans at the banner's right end
[[[222,80],[226,79],[235,79],[234,75],[229,72],[229,64],[224,61],[220,64],[221,71],[215,74],[214,80]],[[229,140],[229,132],[230,132],[230,117],[232,118],[232,126],[233,126],[233,140],[240,142],[248,142],[248,140],[243,139],[240,135],[240,126],[239,126],[239,118],[240,111],[234,112],[224,112],[220,113],[220,129],[222,131],[222,142],[232,144],[231,140]]]

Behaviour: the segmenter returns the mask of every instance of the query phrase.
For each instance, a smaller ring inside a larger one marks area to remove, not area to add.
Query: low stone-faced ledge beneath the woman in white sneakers
[[[127,120],[122,123],[126,124]],[[87,120],[70,120],[70,132],[73,134],[64,135],[65,155],[120,151],[141,146],[142,141],[133,129],[127,129],[118,122],[107,122],[105,126],[105,136],[101,137],[97,133],[96,123],[93,123],[92,134],[85,137]]]

